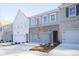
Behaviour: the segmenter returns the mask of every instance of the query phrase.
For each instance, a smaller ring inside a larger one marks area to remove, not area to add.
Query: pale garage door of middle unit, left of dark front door
[[[31,42],[33,43],[49,43],[50,39],[49,39],[49,32],[41,32],[39,33],[39,37],[37,33],[34,33],[32,35],[32,39]]]

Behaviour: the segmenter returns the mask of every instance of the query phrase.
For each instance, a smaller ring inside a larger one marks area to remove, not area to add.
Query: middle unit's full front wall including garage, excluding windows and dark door
[[[54,21],[51,21],[50,16],[52,14],[55,14],[56,19]],[[47,16],[47,22],[45,23],[43,20],[43,17]],[[37,17],[39,17],[39,23],[36,23],[37,21]],[[34,19],[35,18],[35,19]],[[36,20],[34,21],[35,23],[33,23],[31,20]],[[53,43],[53,31],[58,31],[58,41],[61,42],[61,40],[59,39],[59,34],[60,34],[60,30],[59,30],[59,10],[53,10],[53,11],[49,11],[49,12],[45,12],[42,14],[38,14],[35,16],[32,16],[29,20],[30,22],[30,42],[35,42],[35,43]],[[44,34],[46,33],[46,34]],[[46,36],[45,36],[46,35]],[[39,36],[39,37],[38,37]],[[49,39],[43,38],[43,37],[47,37],[49,36]]]

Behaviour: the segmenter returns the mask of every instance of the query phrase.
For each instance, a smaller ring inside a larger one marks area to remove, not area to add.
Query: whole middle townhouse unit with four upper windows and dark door
[[[44,12],[30,17],[30,42],[54,44],[59,39],[59,9]]]

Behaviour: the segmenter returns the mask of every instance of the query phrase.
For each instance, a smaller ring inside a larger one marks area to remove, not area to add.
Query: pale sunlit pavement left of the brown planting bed
[[[1,56],[46,56],[47,53],[39,51],[29,51],[34,46],[38,44],[26,43],[20,45],[12,46],[0,46],[0,55]]]

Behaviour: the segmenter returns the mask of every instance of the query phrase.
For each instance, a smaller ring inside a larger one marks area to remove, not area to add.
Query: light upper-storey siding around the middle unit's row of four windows
[[[51,21],[51,14],[55,14],[56,15],[56,21]],[[44,20],[43,20],[43,17],[44,16],[47,16],[47,22],[45,23]],[[37,19],[39,17],[39,24],[37,24]],[[35,16],[31,16],[30,17],[30,28],[32,27],[38,27],[38,26],[51,26],[51,25],[56,25],[56,24],[59,24],[59,10],[56,9],[56,10],[53,10],[53,11],[48,11],[48,12],[44,12],[44,13],[41,13],[41,14],[38,14],[38,15],[35,15]],[[32,19],[34,19],[35,23],[32,22]],[[33,25],[32,25],[33,23]]]

